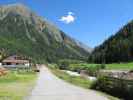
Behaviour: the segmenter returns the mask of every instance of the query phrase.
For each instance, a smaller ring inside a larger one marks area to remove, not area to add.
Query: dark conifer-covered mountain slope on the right
[[[133,61],[133,21],[97,46],[89,56],[89,61],[95,63]]]

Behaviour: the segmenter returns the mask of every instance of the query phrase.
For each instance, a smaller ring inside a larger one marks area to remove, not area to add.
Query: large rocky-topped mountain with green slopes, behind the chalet
[[[0,6],[0,51],[37,62],[86,59],[91,49],[22,4]]]

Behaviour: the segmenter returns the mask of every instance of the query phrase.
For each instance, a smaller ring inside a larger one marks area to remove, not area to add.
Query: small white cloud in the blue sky
[[[73,12],[68,12],[66,16],[62,16],[59,21],[64,22],[66,24],[70,24],[75,21],[75,16]]]

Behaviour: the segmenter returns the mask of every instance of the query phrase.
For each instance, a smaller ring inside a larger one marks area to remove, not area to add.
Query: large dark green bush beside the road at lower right
[[[129,86],[126,80],[100,76],[91,86],[92,89],[100,90],[124,100],[133,99],[133,85]]]

